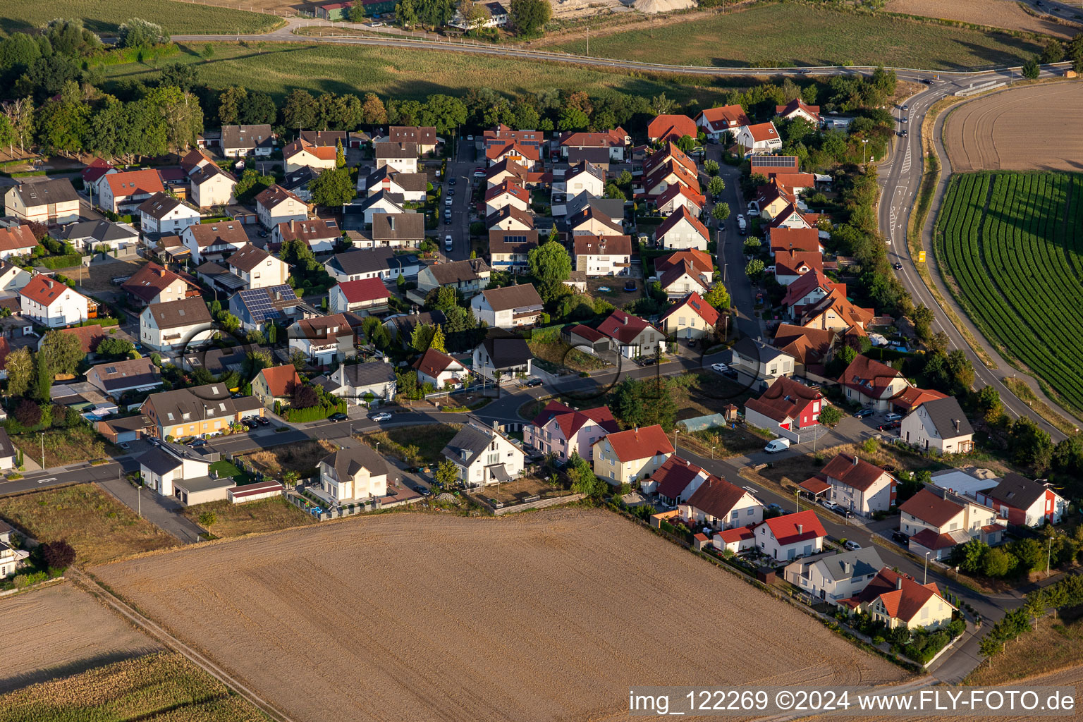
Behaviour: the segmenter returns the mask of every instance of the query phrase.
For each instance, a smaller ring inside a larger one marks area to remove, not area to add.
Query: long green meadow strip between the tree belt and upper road
[[[703,86],[687,86],[641,74],[606,73],[576,65],[558,65],[506,57],[468,55],[451,51],[405,50],[316,43],[214,43],[209,62],[199,57],[205,43],[182,43],[180,55],[166,63],[194,63],[199,81],[216,88],[240,84],[271,93],[280,100],[295,88],[321,93],[376,92],[384,100],[423,99],[433,93],[464,95],[471,88],[492,88],[506,93],[534,93],[546,88],[585,90],[591,95],[618,90],[644,96],[665,92],[686,102],[701,104],[720,100],[723,88],[713,87],[715,78],[696,78]],[[113,79],[149,81],[158,75],[151,65],[131,63],[106,66]],[[710,107],[707,105],[707,107]]]

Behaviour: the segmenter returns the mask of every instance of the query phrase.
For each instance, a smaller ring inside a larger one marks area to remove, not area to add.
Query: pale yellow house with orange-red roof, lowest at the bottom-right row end
[[[866,612],[888,629],[937,629],[952,620],[955,607],[940,594],[936,582],[919,585],[909,575],[883,567],[848,606]]]

